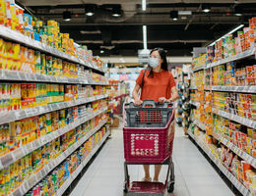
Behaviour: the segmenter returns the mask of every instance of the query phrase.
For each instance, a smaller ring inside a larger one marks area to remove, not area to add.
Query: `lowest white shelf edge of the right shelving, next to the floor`
[[[211,153],[211,151],[205,147],[205,144],[202,141],[197,139],[191,131],[188,131],[188,134],[198,144],[198,146],[201,149],[203,149],[203,151],[208,155],[208,157],[215,163],[215,165],[220,169],[220,171],[224,173],[224,175],[229,179],[229,181],[234,185],[234,187],[236,187],[237,190],[240,191],[240,193],[243,196],[251,195],[250,191],[240,181],[238,181],[237,178],[231,172],[229,172],[224,167],[224,165],[219,161],[219,159],[215,157],[213,153]]]

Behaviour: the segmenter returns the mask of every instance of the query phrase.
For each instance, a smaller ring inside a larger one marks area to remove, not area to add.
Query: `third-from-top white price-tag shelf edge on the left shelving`
[[[70,108],[73,106],[90,103],[90,102],[93,102],[93,101],[96,101],[99,99],[103,99],[106,97],[108,97],[107,94],[84,98],[84,99],[78,99],[78,100],[69,101],[69,102],[48,104],[48,105],[44,105],[44,106],[38,106],[38,107],[33,107],[33,108],[28,108],[28,109],[23,109],[23,110],[18,110],[18,111],[2,113],[0,115],[0,124],[10,123],[10,122],[30,118],[33,116],[42,115],[44,113],[61,110],[64,108]]]

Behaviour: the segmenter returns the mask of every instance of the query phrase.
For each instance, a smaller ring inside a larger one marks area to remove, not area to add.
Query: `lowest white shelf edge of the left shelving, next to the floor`
[[[93,149],[93,151],[88,155],[88,157],[83,161],[83,163],[77,168],[75,172],[73,172],[62,184],[62,186],[57,190],[57,192],[54,194],[54,196],[61,196],[66,191],[66,189],[71,185],[73,180],[78,176],[78,174],[87,166],[87,164],[90,162],[92,157],[96,154],[97,150],[102,146],[106,138],[109,136],[109,131],[105,133],[104,137],[99,141],[98,144],[96,144],[96,147]]]

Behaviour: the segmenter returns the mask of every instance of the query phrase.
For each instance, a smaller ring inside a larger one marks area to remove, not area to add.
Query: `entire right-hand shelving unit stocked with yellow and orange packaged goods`
[[[255,48],[255,22],[209,46],[194,60],[197,67],[206,59],[203,71],[195,69],[191,78],[194,124],[188,133],[242,195],[256,192],[256,95],[244,88],[255,85],[255,58],[231,57]]]

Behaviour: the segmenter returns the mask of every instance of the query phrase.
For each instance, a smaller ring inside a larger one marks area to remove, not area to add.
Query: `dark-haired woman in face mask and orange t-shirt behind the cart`
[[[133,90],[134,104],[140,106],[146,99],[160,103],[175,101],[178,98],[178,91],[172,73],[167,70],[165,51],[161,48],[153,49],[150,53],[149,65],[150,70],[142,71],[136,79]],[[140,89],[141,97],[138,95]],[[160,169],[160,165],[155,166],[154,181],[159,181]],[[152,181],[149,165],[144,165],[144,172],[143,181]]]

